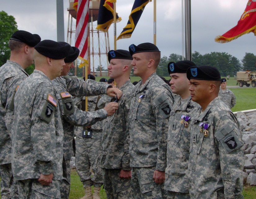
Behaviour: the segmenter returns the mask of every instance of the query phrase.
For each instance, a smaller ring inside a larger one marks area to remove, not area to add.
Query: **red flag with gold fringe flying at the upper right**
[[[226,43],[249,32],[253,32],[256,36],[256,0],[248,1],[244,13],[234,28],[215,37],[214,40],[219,43]]]

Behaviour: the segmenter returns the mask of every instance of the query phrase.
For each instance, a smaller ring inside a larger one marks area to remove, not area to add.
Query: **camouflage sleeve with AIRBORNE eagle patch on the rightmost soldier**
[[[244,152],[240,129],[230,116],[220,118],[215,129],[225,198],[240,198],[243,189]]]

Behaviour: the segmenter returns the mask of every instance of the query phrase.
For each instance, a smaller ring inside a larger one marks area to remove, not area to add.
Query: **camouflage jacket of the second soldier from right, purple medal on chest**
[[[164,189],[169,193],[187,193],[189,197],[187,168],[191,122],[199,114],[199,108],[199,104],[193,102],[191,97],[184,100],[179,97],[173,105],[168,124],[167,167],[164,181]]]

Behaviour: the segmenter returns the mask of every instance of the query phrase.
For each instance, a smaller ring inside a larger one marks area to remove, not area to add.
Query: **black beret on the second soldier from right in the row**
[[[168,72],[169,74],[172,73],[186,73],[187,69],[191,66],[195,66],[194,62],[191,62],[189,60],[183,60],[179,62],[170,62],[168,63]]]

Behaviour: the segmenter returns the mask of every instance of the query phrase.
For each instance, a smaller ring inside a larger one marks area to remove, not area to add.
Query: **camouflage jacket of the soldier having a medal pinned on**
[[[130,136],[127,127],[133,88],[134,85],[130,80],[119,88],[122,91],[122,97],[118,100],[118,110],[103,121],[102,168],[131,170],[129,158]],[[106,101],[106,104],[109,102]]]

